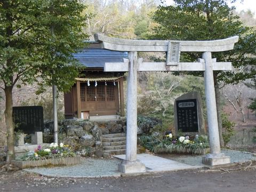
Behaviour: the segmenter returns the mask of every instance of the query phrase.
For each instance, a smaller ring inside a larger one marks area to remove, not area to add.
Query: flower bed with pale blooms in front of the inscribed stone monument
[[[186,137],[173,137],[172,133],[163,137],[158,136],[142,136],[140,137],[141,145],[155,154],[171,153],[171,154],[206,154],[210,152],[207,137],[199,137],[194,139]]]

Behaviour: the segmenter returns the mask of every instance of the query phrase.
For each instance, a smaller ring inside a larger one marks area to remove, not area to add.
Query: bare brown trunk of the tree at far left
[[[12,119],[12,88],[13,86],[5,86],[5,123],[7,129],[7,158],[6,163],[10,164],[14,158],[14,127]]]

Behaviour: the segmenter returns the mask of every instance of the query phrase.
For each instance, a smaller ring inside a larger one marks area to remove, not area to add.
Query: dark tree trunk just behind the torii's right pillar
[[[220,90],[219,84],[217,81],[217,73],[213,72],[214,79],[214,88],[215,88],[215,98],[216,98],[216,107],[217,107],[217,116],[218,116],[218,127],[219,127],[219,137],[220,137],[220,146],[224,146],[224,140],[222,137],[222,118],[221,118],[221,104],[220,104]]]

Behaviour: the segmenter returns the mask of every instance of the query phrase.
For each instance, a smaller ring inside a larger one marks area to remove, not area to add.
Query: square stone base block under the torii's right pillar
[[[203,164],[210,166],[230,163],[230,157],[225,156],[225,154],[207,154],[203,156],[202,160]]]

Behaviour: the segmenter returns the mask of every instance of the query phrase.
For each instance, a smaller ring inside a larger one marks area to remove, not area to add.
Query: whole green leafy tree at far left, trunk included
[[[14,156],[12,90],[38,83],[67,91],[78,75],[72,53],[84,46],[86,7],[79,0],[0,1],[0,81],[5,93],[7,163]]]

